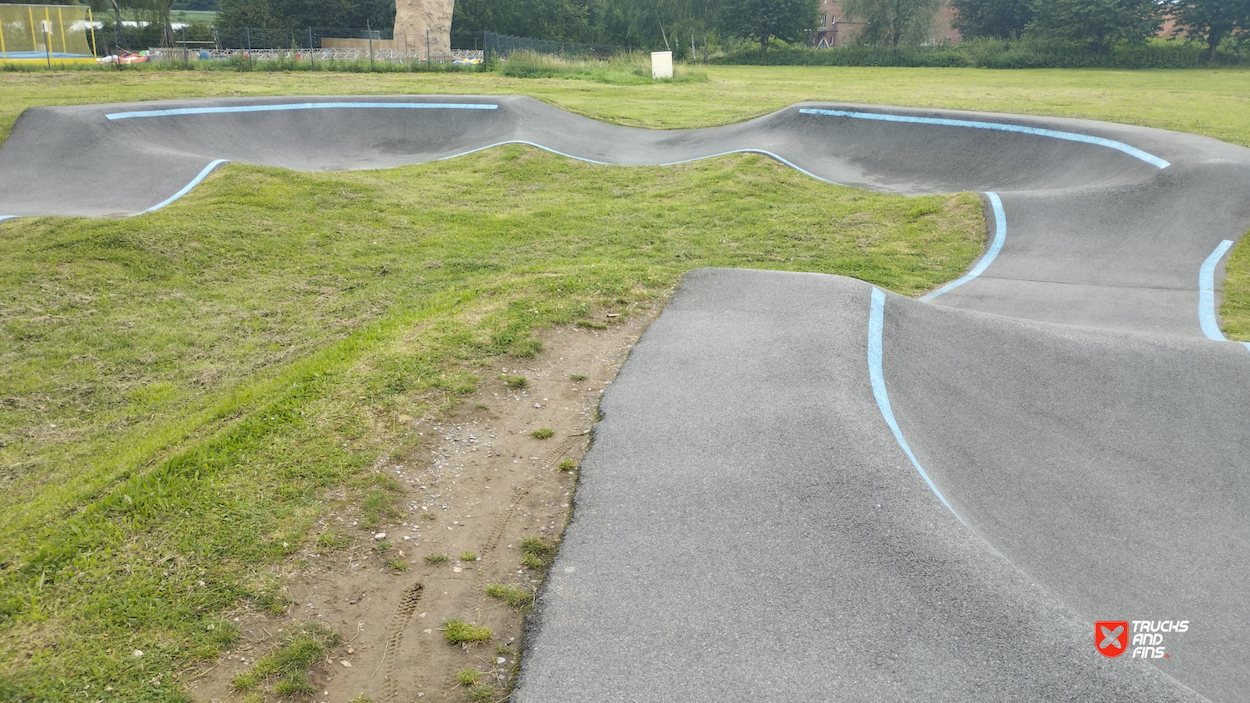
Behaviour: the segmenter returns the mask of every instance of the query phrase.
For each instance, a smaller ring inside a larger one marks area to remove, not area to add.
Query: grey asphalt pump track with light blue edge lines
[[[1250,346],[1215,314],[1248,149],[824,103],[675,131],[518,96],[38,108],[0,148],[0,216],[138,214],[221,160],[502,143],[621,165],[756,151],[979,191],[989,223],[924,300],[686,275],[604,397],[515,700],[1250,700]],[[1100,620],[1150,637],[1105,657]]]

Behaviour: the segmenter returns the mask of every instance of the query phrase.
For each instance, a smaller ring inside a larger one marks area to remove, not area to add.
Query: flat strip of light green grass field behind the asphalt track
[[[414,93],[532,95],[598,120],[651,129],[715,126],[800,100],[1085,118],[1174,129],[1250,146],[1250,70],[879,69],[698,66],[706,81],[606,85],[480,74],[116,71],[0,73],[0,138],[34,105],[246,95]]]

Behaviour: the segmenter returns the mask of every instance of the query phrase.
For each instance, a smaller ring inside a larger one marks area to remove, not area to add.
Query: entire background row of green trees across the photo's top
[[[759,43],[762,53],[774,39],[806,41],[816,26],[819,1],[455,0],[452,33],[461,40],[491,30],[556,41],[668,48],[679,55],[716,38],[742,38]],[[1119,43],[1155,36],[1170,18],[1178,31],[1204,41],[1211,59],[1226,39],[1250,41],[1250,0],[842,0],[842,13],[861,23],[860,44],[899,46],[928,40],[934,16],[948,1],[965,39],[1059,39],[1106,53]],[[119,21],[122,10],[130,10],[164,28],[174,8],[174,0],[90,4],[96,13],[111,11]],[[388,30],[395,23],[394,0],[220,0],[220,8],[219,26]]]

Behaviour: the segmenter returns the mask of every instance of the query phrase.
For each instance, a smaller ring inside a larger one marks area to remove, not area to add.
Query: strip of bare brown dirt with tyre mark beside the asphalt
[[[328,625],[342,642],[312,669],[316,693],[295,699],[468,700],[469,688],[456,682],[465,668],[481,672],[479,685],[494,687],[491,699],[501,699],[520,654],[522,618],[486,597],[486,585],[538,589],[541,572],[521,564],[521,540],[555,542],[562,533],[575,473],[561,472],[560,462],[580,464],[604,389],[658,313],[635,309],[608,329],[549,330],[538,357],[482,369],[479,390],[450,417],[415,420],[419,442],[380,467],[402,487],[404,517],[366,534],[349,509],[330,513],[321,529],[341,530],[350,544],[304,555],[310,565],[285,587],[286,614],[240,614],[242,639],[192,678],[195,700],[245,700],[232,679],[274,650],[281,630],[302,622]],[[500,377],[524,377],[526,385],[510,388]],[[541,428],[554,435],[535,438]],[[380,554],[384,540],[392,547]],[[461,558],[466,552],[476,559]],[[429,563],[431,554],[448,559]],[[410,570],[389,568],[386,559],[402,559]],[[454,618],[486,625],[494,638],[451,645],[441,628]]]

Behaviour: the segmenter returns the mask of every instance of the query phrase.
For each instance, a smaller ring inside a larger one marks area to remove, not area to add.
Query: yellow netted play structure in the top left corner
[[[91,8],[0,5],[0,63],[94,64]]]

